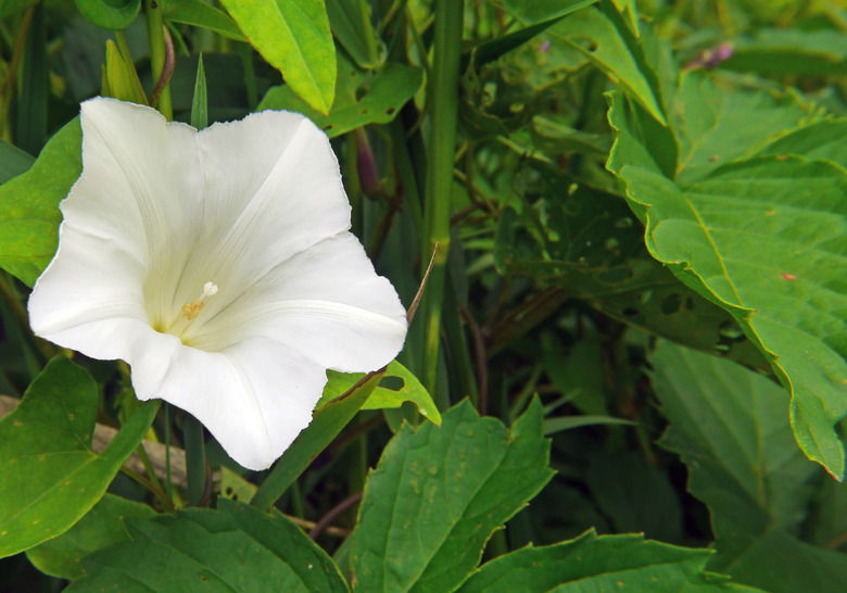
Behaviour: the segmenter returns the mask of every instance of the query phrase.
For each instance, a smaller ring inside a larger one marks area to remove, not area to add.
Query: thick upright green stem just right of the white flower
[[[437,0],[435,40],[431,86],[429,142],[427,144],[427,188],[421,258],[435,250],[435,264],[421,302],[423,329],[422,382],[435,394],[441,336],[441,310],[444,300],[444,274],[450,251],[451,186],[458,124],[459,59],[464,2]]]

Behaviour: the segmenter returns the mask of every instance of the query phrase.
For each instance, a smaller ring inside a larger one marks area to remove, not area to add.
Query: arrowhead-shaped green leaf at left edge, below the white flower
[[[94,506],[159,409],[143,404],[94,455],[97,402],[91,376],[59,356],[0,420],[0,557],[64,533]]]

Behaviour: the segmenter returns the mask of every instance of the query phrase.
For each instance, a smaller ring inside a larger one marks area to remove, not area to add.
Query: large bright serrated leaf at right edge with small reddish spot
[[[756,103],[723,104],[743,105],[739,109],[749,114],[749,105]],[[791,125],[797,112],[787,111],[784,117],[772,115],[773,121]],[[826,161],[778,154],[738,160],[710,172],[700,167],[699,174],[681,168],[679,178],[670,179],[648,163],[649,140],[636,130],[633,113],[620,94],[614,98],[610,121],[618,141],[608,166],[645,223],[650,254],[733,315],[791,390],[798,443],[840,479],[844,447],[833,425],[847,414],[845,169]],[[686,136],[697,127],[693,122],[704,119],[717,122],[691,113],[678,136]],[[737,139],[747,151],[761,150],[759,136],[750,137],[745,126],[719,127],[722,143],[732,146]],[[776,134],[761,135],[761,140],[772,141]],[[728,150],[741,152],[737,147]]]

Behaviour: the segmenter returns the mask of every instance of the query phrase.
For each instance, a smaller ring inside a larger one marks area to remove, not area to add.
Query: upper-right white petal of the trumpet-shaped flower
[[[302,115],[265,111],[215,124],[198,135],[198,147],[205,231],[186,265],[192,283],[213,281],[222,299],[231,298],[291,255],[350,228],[329,139]]]

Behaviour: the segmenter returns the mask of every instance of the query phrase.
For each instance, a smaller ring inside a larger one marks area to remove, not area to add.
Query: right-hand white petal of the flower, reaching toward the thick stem
[[[406,312],[377,276],[358,240],[344,232],[274,268],[231,303],[210,303],[187,343],[204,350],[251,336],[296,349],[327,368],[376,370],[403,348]]]

